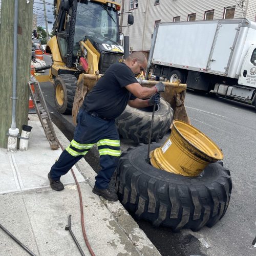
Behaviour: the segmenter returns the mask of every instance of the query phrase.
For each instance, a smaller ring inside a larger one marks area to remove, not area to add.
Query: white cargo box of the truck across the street
[[[149,61],[238,78],[255,38],[256,23],[248,19],[162,23],[154,31]]]

